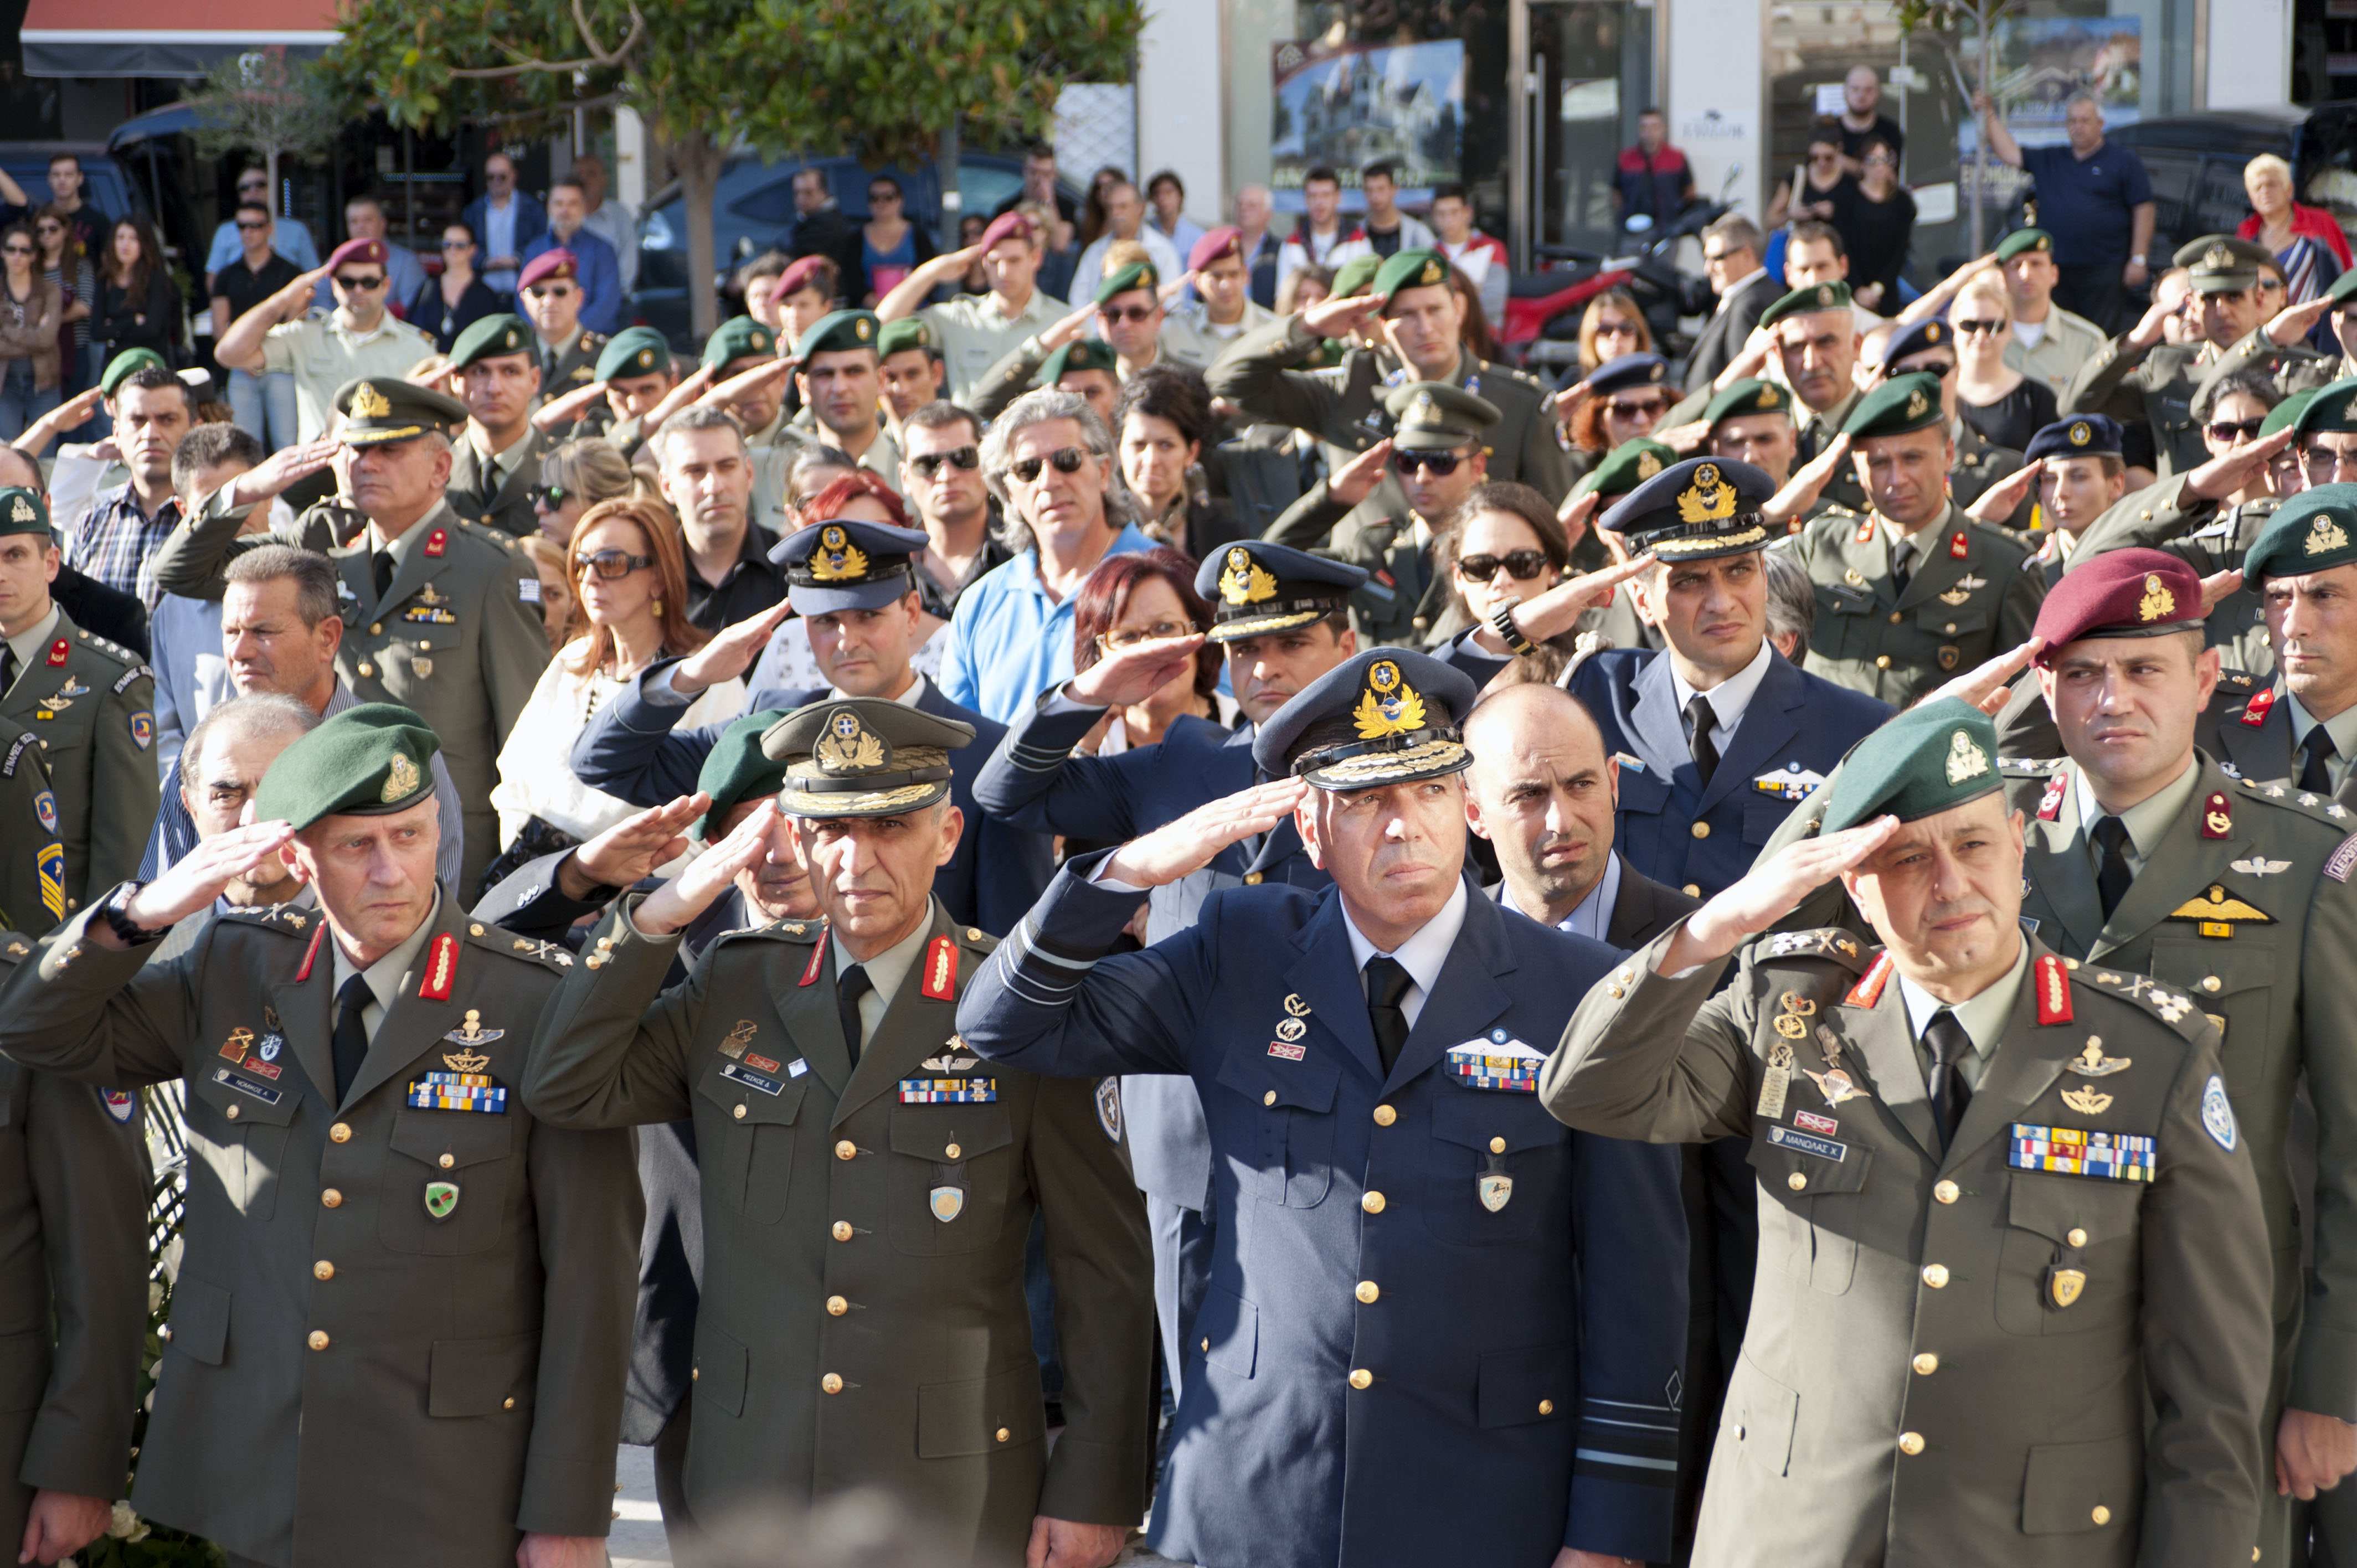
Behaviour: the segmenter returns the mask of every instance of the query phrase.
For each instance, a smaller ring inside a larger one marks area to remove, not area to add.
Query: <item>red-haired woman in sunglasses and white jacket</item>
[[[568,766],[573,740],[589,717],[653,660],[693,653],[709,632],[688,622],[688,566],[679,523],[648,498],[589,507],[573,531],[573,585],[580,611],[573,639],[540,674],[500,747],[500,858],[483,887],[559,849],[570,849],[634,811],[622,799],[580,783]],[[731,679],[698,693],[681,724],[719,724],[745,705],[745,681]]]

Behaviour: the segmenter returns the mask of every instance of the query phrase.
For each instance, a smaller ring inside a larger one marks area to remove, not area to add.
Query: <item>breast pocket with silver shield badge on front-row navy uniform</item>
[[[1572,1129],[1537,1094],[1440,1085],[1424,1224],[1459,1247],[1530,1240],[1541,1219],[1570,1214]]]

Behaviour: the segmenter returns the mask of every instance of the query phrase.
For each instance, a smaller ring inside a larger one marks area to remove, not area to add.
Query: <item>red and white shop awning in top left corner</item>
[[[335,0],[31,0],[26,75],[203,75],[247,50],[321,54]]]

